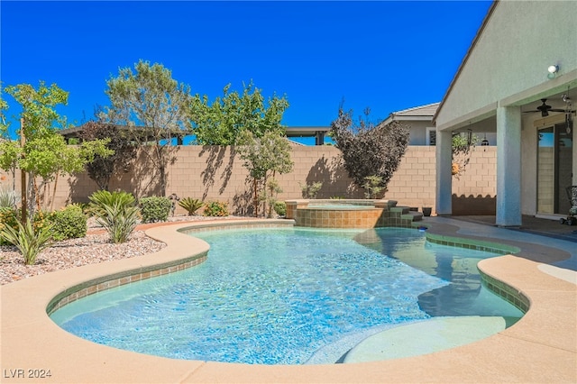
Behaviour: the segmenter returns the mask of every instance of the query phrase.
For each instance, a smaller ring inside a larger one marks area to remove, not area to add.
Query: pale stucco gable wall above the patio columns
[[[488,109],[500,100],[527,92],[528,100],[546,96],[539,89],[547,68],[559,65],[559,76],[577,69],[575,1],[499,1],[486,20],[478,41],[456,75],[450,94],[436,116],[437,127],[467,123],[468,114]],[[566,89],[560,85],[559,91]],[[522,96],[517,105],[523,104]]]

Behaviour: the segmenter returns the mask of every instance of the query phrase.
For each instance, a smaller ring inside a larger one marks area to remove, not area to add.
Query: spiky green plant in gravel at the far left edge
[[[48,224],[35,229],[30,219],[26,219],[24,225],[17,222],[17,226],[18,228],[14,229],[10,225],[5,225],[0,231],[0,238],[16,246],[22,253],[26,265],[33,265],[39,253],[50,247],[52,226]]]

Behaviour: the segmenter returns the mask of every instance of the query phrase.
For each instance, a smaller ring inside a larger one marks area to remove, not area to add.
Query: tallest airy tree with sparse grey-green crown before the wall
[[[173,139],[185,130],[190,88],[174,80],[161,64],[140,60],[134,69],[120,69],[117,78],[106,82],[110,106],[102,117],[126,125],[131,139],[151,160],[160,194],[166,196],[168,166],[177,151]]]

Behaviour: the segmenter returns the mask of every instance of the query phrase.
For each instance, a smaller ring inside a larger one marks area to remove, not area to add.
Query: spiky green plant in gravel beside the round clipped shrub
[[[112,242],[126,242],[138,224],[138,206],[124,206],[121,201],[115,201],[111,206],[103,208],[103,211],[95,213],[96,222],[105,228]]]

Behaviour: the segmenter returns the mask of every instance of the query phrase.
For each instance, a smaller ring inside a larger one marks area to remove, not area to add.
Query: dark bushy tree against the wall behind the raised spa
[[[331,135],[342,152],[344,169],[357,187],[370,185],[372,191],[386,191],[407,151],[408,129],[398,122],[375,126],[369,121],[368,109],[359,123],[353,123],[352,116],[353,111],[345,113],[339,108],[338,117],[331,123]]]

